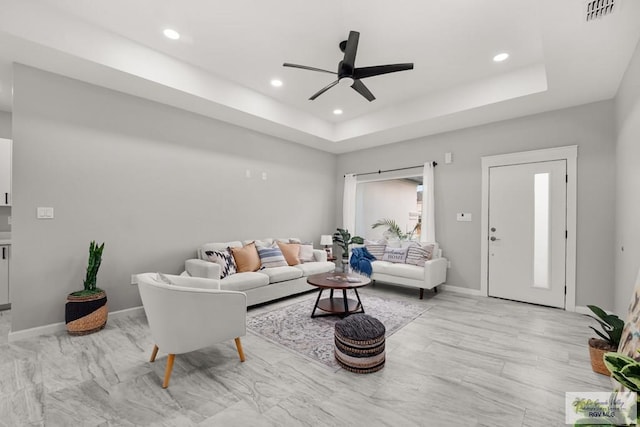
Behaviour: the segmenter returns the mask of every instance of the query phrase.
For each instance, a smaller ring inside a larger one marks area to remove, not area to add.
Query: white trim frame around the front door
[[[548,148],[524,151],[520,153],[500,154],[482,157],[482,219],[480,236],[480,293],[488,296],[488,260],[489,260],[489,168],[551,160],[566,160],[567,176],[567,254],[565,310],[576,311],[576,230],[577,230],[577,194],[578,194],[578,146]]]

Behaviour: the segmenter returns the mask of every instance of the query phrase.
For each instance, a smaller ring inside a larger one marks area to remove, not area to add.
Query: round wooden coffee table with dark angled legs
[[[353,313],[364,313],[364,307],[362,306],[362,301],[360,301],[360,295],[358,295],[358,288],[371,283],[371,279],[368,277],[359,274],[322,273],[307,277],[307,283],[320,288],[318,298],[316,298],[316,303],[311,312],[311,317],[332,315],[348,316]],[[320,299],[325,289],[330,290],[329,298]],[[353,289],[357,301],[347,298],[347,289]],[[342,297],[334,298],[334,290],[342,290]],[[325,313],[316,314],[317,309]]]

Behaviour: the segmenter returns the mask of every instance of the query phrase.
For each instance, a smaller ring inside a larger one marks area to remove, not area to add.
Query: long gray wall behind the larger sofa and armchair
[[[25,66],[14,88],[14,331],[64,320],[92,239],[120,310],[140,305],[132,273],[180,273],[205,242],[335,228],[332,154]]]

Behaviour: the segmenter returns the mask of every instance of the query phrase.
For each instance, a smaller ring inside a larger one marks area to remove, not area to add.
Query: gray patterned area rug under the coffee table
[[[325,291],[326,293],[328,292]],[[311,310],[316,296],[316,293],[310,294],[302,301],[272,311],[255,315],[249,313],[247,328],[313,361],[338,369],[339,365],[333,353],[333,334],[334,325],[340,317],[327,316],[312,319]],[[360,294],[360,299],[366,314],[384,324],[387,338],[429,308],[420,303],[381,298],[364,293]]]

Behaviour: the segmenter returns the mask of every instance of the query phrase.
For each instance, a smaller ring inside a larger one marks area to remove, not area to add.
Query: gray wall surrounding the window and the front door
[[[482,156],[578,145],[577,305],[612,309],[615,203],[615,129],[612,101],[507,120],[419,138],[338,157],[336,201],[342,176],[435,160],[436,237],[451,261],[447,284],[480,289]],[[444,153],[453,163],[444,163]],[[472,222],[457,222],[470,212]],[[337,212],[336,222],[341,223]]]

